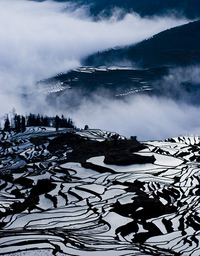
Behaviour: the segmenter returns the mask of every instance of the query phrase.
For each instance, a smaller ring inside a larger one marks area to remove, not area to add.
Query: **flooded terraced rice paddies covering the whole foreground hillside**
[[[0,255],[199,255],[200,137],[30,127],[0,139]]]

